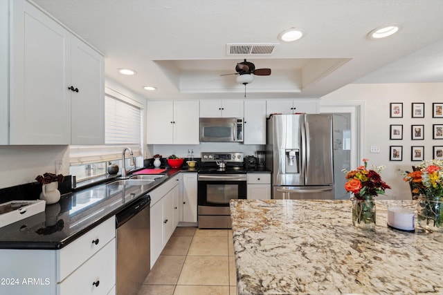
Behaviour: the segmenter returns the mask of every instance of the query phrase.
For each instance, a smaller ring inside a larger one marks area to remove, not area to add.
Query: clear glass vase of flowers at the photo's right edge
[[[425,231],[443,232],[443,202],[441,197],[420,196],[417,203],[417,225]]]

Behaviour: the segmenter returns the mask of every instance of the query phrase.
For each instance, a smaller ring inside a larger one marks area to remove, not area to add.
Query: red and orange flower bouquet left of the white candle
[[[380,172],[385,166],[372,166],[368,169],[368,159],[363,159],[364,166],[359,166],[355,170],[343,172],[346,173],[345,190],[354,193],[357,200],[367,200],[370,196],[384,195],[386,189],[390,186],[381,180]]]

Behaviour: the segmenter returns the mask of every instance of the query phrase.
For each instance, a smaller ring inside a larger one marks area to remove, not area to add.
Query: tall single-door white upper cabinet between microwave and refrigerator
[[[244,101],[244,144],[266,144],[266,100]]]

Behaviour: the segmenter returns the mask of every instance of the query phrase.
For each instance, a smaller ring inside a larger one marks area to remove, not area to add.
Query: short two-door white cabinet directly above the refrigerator
[[[266,101],[266,117],[273,113],[293,114],[309,113],[315,114],[320,111],[319,99],[269,99]]]

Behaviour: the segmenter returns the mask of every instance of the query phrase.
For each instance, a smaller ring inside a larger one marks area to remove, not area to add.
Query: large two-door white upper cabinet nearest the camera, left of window
[[[102,55],[27,1],[10,5],[8,143],[104,143]]]

